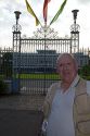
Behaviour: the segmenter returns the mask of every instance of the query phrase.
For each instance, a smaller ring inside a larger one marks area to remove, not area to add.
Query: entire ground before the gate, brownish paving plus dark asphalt
[[[40,136],[44,96],[0,97],[0,136]]]

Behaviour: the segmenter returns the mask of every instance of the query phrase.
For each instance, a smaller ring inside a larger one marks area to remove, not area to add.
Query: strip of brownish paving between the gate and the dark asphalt
[[[0,97],[0,109],[40,110],[44,96],[10,95]]]

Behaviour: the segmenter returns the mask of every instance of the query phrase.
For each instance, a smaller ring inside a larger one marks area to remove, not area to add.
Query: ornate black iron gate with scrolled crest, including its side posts
[[[42,94],[59,79],[56,58],[63,52],[79,49],[79,25],[72,25],[70,36],[59,38],[50,27],[37,29],[31,38],[21,36],[21,26],[13,26],[13,91]],[[42,37],[40,37],[40,35]]]

